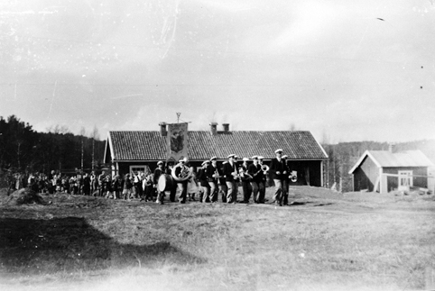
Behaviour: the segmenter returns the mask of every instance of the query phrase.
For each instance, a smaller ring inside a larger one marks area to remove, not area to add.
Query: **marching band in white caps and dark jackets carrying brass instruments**
[[[180,159],[171,170],[176,182],[175,187],[180,192],[179,202],[181,204],[186,202],[188,187],[190,183],[195,183],[199,185],[201,203],[216,203],[220,193],[223,203],[236,204],[238,186],[241,184],[245,204],[251,202],[251,196],[253,203],[264,204],[266,181],[269,176],[273,179],[275,186],[273,203],[280,206],[288,205],[288,185],[292,179],[292,173],[286,162],[287,156],[282,156],[282,151],[282,149],[275,150],[276,157],[272,159],[270,166],[263,163],[264,157],[256,155],[251,159],[244,158],[243,164],[238,165],[235,154],[228,155],[227,160],[219,166],[217,157],[214,156],[202,162],[196,175],[193,174],[189,160]],[[162,161],[158,165],[161,168]],[[162,168],[159,171],[162,171]],[[159,192],[156,203],[162,204],[163,196]]]

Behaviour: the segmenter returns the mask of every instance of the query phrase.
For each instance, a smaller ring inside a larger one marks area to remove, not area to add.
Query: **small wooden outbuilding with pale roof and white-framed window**
[[[421,150],[366,150],[349,171],[354,191],[388,193],[430,186],[434,164]]]

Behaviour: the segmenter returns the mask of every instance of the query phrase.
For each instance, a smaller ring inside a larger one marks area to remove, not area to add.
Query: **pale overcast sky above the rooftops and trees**
[[[0,0],[0,115],[434,139],[434,54],[430,0]]]

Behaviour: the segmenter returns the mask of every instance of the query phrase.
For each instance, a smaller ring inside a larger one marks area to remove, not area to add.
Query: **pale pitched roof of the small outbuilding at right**
[[[391,152],[389,150],[366,150],[356,162],[356,165],[349,171],[352,174],[360,166],[366,157],[372,159],[378,168],[397,167],[430,167],[434,166],[421,150],[403,150]]]

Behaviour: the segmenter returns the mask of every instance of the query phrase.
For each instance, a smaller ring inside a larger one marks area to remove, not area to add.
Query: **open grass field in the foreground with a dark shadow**
[[[64,194],[43,196],[50,205],[3,203],[0,289],[430,287],[433,195],[341,195],[310,186],[292,193],[293,204],[283,207]]]

